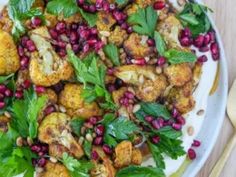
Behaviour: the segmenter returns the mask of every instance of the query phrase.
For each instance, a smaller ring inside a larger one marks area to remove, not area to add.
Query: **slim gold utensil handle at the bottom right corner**
[[[211,174],[209,177],[220,176],[221,171],[224,168],[225,163],[226,163],[231,151],[233,150],[235,144],[236,144],[236,133],[233,135],[233,137],[230,139],[230,141],[226,145],[226,148],[225,148],[223,154],[221,154],[221,157],[218,159],[218,161],[217,161],[216,165],[214,166],[213,170],[211,171]]]

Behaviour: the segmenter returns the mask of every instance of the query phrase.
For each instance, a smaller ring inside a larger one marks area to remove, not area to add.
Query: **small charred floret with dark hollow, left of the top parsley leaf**
[[[111,14],[98,12],[97,28],[99,31],[110,31],[111,27],[116,23],[116,20]]]

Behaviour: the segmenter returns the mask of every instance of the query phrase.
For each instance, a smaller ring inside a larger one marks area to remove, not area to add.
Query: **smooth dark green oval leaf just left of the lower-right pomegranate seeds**
[[[146,114],[154,116],[154,117],[163,117],[168,120],[171,118],[171,114],[168,109],[161,104],[158,103],[141,103],[141,110],[143,110]]]

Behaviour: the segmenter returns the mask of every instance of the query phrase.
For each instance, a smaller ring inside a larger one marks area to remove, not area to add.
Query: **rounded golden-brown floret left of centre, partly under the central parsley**
[[[101,114],[97,103],[86,103],[81,97],[83,86],[78,84],[66,84],[59,95],[59,103],[67,109],[70,116],[90,118]]]

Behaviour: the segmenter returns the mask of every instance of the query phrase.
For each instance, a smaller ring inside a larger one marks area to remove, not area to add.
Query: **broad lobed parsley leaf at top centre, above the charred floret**
[[[145,9],[138,9],[138,11],[128,18],[128,23],[133,25],[135,32],[153,37],[157,24],[157,12],[152,6]]]

